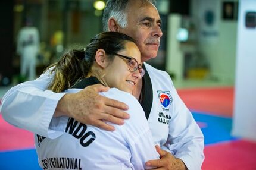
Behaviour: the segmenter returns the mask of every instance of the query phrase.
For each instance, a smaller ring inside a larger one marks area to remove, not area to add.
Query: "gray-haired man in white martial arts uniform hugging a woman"
[[[162,36],[161,19],[152,1],[108,1],[103,21],[104,30],[125,33],[136,40],[142,62],[157,56]],[[146,74],[137,83],[133,96],[146,112],[155,144],[161,146],[161,149],[157,147],[161,159],[151,160],[146,165],[155,169],[201,169],[204,137],[191,112],[177,95],[166,72],[148,64],[144,67]],[[50,80],[51,75],[45,73],[34,82],[20,84],[7,92],[2,103],[5,120],[33,133],[55,138],[65,128],[61,126],[64,124],[61,115],[105,130],[114,130],[105,121],[123,124],[122,118],[129,118],[117,109],[126,109],[124,104],[97,94],[106,91],[105,87],[90,86],[75,94],[43,92]],[[33,106],[29,111],[27,104]],[[35,121],[22,119],[17,112],[26,112],[26,117],[33,117]]]

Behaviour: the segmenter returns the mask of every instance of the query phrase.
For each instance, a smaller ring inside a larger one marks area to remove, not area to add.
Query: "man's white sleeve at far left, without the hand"
[[[38,79],[14,86],[1,101],[1,113],[10,124],[48,138],[64,133],[63,117],[53,118],[58,101],[65,93],[46,90],[51,81],[50,70]]]

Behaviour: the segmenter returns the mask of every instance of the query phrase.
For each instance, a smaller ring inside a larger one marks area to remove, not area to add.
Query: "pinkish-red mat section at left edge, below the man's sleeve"
[[[34,147],[33,133],[8,124],[0,115],[0,151]]]

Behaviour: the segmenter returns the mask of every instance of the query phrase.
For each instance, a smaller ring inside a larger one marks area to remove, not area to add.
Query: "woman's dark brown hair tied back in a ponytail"
[[[53,92],[63,92],[63,90],[70,88],[77,80],[88,75],[98,49],[104,49],[108,55],[108,60],[113,61],[114,53],[123,50],[127,41],[135,43],[135,40],[126,34],[103,32],[93,37],[85,49],[68,51],[58,62],[46,68],[48,70],[54,67],[51,73],[55,73],[48,89]]]

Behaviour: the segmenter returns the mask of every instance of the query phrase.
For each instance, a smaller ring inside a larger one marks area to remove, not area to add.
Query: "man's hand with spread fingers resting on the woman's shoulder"
[[[112,125],[123,125],[123,119],[129,119],[128,106],[117,100],[108,99],[98,92],[107,92],[109,87],[96,84],[88,86],[78,93],[67,93],[58,102],[54,116],[67,115],[84,124],[94,125],[108,131],[114,131]]]

